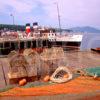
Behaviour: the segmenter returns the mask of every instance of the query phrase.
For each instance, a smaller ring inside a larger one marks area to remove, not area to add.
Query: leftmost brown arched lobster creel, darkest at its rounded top
[[[25,57],[21,54],[16,54],[10,58],[9,78],[20,78],[27,76],[26,68],[29,67]]]

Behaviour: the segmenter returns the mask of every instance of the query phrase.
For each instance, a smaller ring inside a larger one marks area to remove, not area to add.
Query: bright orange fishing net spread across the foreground
[[[0,96],[42,96],[55,94],[81,94],[100,90],[100,81],[83,76],[67,83],[32,88],[14,88],[0,93]]]

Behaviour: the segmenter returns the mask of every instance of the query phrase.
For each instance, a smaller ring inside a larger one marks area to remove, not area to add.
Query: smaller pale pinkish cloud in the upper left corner
[[[36,7],[36,2],[33,2],[33,0],[0,1],[0,10],[6,11],[7,7],[11,7],[13,12],[16,13],[28,13],[31,12],[31,10]]]

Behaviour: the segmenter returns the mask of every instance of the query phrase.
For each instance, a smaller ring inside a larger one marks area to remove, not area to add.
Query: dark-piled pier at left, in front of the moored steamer
[[[7,55],[12,50],[26,48],[48,47],[48,40],[44,39],[24,39],[24,40],[3,40],[0,41],[0,55]]]

